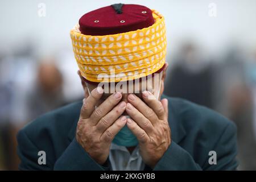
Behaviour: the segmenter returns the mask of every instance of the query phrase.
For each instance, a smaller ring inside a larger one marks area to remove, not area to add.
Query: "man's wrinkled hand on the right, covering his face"
[[[152,99],[153,97],[152,93],[144,91],[143,102],[134,94],[129,94],[129,103],[126,106],[126,112],[132,118],[127,119],[127,126],[139,141],[144,163],[151,168],[155,167],[171,144],[168,100],[163,99],[160,102]]]

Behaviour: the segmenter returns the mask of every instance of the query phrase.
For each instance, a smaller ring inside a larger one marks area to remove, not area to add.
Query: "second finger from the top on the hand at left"
[[[97,125],[98,121],[100,121],[102,117],[109,113],[109,111],[118,104],[121,98],[122,94],[119,92],[115,92],[114,94],[109,96],[104,102],[102,102],[102,104],[93,111],[92,115],[90,115],[90,118],[92,118],[92,121],[94,121],[94,125]]]

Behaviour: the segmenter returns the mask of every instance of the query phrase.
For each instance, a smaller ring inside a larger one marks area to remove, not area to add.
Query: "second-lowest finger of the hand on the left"
[[[125,111],[125,107],[126,103],[122,101],[120,104],[115,106],[112,111],[102,117],[96,125],[98,131],[104,133],[104,131],[108,129],[108,127],[110,127],[113,122],[120,117],[123,111]]]

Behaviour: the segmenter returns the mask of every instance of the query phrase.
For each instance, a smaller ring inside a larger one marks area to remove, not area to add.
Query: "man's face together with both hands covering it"
[[[98,163],[106,161],[112,142],[126,147],[139,144],[143,161],[151,167],[170,146],[168,101],[160,101],[167,66],[158,76],[135,81],[127,88],[124,84],[114,84],[114,89],[93,85],[81,78],[85,99],[76,138]]]

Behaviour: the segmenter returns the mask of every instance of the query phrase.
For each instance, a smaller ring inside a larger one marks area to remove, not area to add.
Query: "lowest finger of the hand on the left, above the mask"
[[[125,126],[127,118],[125,116],[118,118],[106,131],[101,135],[101,140],[112,142],[115,135]]]

